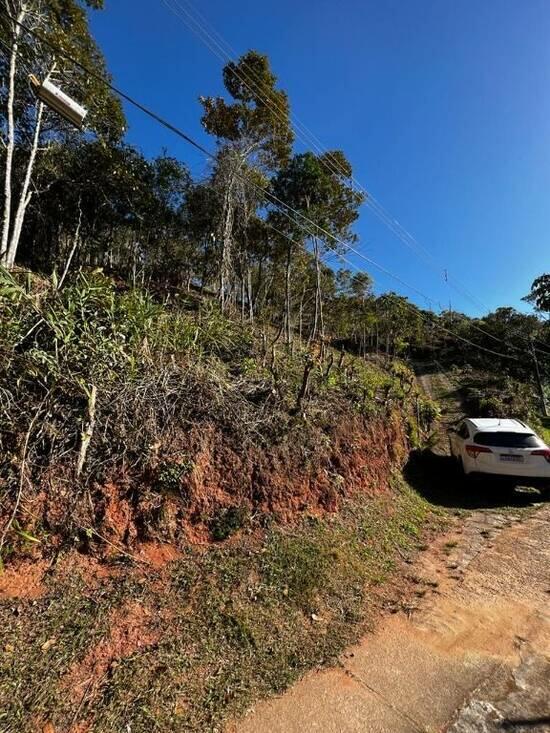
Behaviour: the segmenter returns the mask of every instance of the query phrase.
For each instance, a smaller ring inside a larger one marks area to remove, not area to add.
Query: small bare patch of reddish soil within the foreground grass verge
[[[109,629],[109,636],[93,647],[67,674],[65,685],[75,702],[80,703],[84,697],[87,700],[93,698],[117,660],[155,644],[159,638],[153,629],[153,614],[136,602],[114,611]]]

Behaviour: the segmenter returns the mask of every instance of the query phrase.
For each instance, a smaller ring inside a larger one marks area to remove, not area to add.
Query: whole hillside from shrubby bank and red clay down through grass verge
[[[6,732],[212,730],[354,638],[440,521],[399,477],[435,408],[398,361],[99,272],[0,302]]]

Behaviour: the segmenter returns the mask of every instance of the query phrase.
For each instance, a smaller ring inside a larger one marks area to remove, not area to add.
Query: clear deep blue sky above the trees
[[[363,207],[359,249],[430,302],[350,256],[378,291],[436,310],[451,300],[471,315],[481,304],[528,310],[521,297],[550,270],[547,0],[193,2],[107,0],[93,14],[120,87],[213,148],[198,97],[223,94],[223,64],[167,5],[184,18],[198,9],[236,55],[269,56],[294,116],[346,153],[357,180],[429,253],[417,256]],[[126,111],[129,142],[205,171],[204,156]]]

